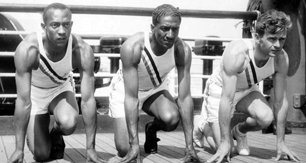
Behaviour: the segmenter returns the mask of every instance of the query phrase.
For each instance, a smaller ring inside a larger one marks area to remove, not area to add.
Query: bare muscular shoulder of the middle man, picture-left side
[[[141,52],[144,49],[144,33],[138,32],[130,36],[120,49],[122,62],[131,62],[138,64],[141,58]]]

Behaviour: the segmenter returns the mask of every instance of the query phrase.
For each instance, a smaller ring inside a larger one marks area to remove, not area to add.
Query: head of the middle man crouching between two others
[[[151,31],[161,47],[171,48],[178,38],[181,13],[170,4],[157,6],[152,13]]]

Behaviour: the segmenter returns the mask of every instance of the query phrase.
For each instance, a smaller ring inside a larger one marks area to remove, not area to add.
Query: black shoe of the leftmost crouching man
[[[65,142],[63,139],[63,135],[55,133],[55,129],[52,128],[50,132],[51,137],[51,151],[50,151],[50,159],[58,160],[64,158],[65,151]],[[61,142],[61,143],[58,143]]]

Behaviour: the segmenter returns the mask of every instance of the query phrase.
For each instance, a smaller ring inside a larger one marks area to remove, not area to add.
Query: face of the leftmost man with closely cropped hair
[[[49,40],[57,46],[67,44],[73,22],[67,9],[50,9],[45,22],[45,31]]]

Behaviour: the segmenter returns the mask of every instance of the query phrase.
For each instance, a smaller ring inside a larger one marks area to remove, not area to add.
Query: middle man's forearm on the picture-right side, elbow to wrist
[[[185,135],[186,147],[192,146],[192,130],[193,130],[193,102],[191,97],[184,100],[178,98],[178,107],[182,120],[183,131]]]

